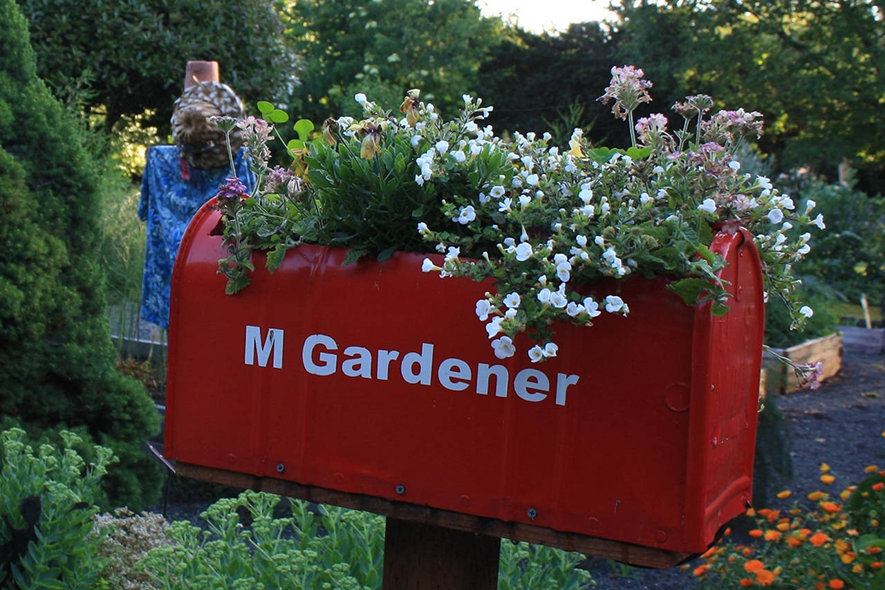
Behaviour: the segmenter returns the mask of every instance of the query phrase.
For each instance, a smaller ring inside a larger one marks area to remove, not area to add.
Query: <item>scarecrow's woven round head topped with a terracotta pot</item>
[[[242,119],[246,113],[234,90],[219,82],[218,62],[189,61],[184,92],[174,103],[172,137],[181,156],[204,170],[227,166],[225,134],[209,120],[212,116]],[[242,146],[239,128],[231,131],[230,143],[234,152]]]

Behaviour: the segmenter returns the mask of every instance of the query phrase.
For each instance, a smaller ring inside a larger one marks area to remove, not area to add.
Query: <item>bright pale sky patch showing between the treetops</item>
[[[486,16],[501,14],[506,20],[515,13],[519,26],[535,33],[564,31],[569,23],[603,20],[611,16],[610,0],[477,0]]]

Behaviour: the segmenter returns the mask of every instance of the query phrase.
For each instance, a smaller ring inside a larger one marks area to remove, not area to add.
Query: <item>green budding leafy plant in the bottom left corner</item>
[[[97,587],[101,535],[89,532],[99,482],[114,458],[111,449],[96,446],[93,461],[85,462],[74,450],[81,439],[73,432],[60,436],[62,446],[40,445],[35,452],[25,431],[0,434],[0,586]]]

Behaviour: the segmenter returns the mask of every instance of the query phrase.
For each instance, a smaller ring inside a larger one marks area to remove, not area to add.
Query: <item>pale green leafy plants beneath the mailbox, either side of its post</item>
[[[150,551],[142,567],[161,588],[379,588],[384,519],[358,510],[243,492],[201,515],[207,529],[175,522],[175,543]],[[584,556],[559,549],[501,544],[498,587],[577,589],[592,584]],[[324,586],[331,585],[331,586]]]

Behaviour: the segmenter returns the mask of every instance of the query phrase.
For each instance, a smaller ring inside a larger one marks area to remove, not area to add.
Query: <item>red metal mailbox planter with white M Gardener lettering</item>
[[[664,278],[591,285],[630,314],[558,326],[559,355],[533,364],[527,338],[504,360],[489,346],[473,307],[492,285],[422,273],[424,254],[342,266],[304,245],[273,275],[255,254],[225,295],[218,221],[196,214],[173,274],[168,458],[572,549],[703,552],[750,504],[764,307],[743,231],[712,244],[725,316]]]

